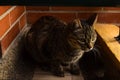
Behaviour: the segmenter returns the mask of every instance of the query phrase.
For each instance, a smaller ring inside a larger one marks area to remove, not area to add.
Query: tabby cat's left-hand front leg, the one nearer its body
[[[52,62],[51,64],[51,71],[54,75],[64,77],[64,69],[63,66],[59,62]]]

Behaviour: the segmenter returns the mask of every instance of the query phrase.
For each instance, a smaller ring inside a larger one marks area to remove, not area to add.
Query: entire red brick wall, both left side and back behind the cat
[[[74,18],[86,19],[93,13],[98,13],[99,23],[120,23],[120,8],[115,7],[0,6],[0,52],[5,53],[27,23],[32,24],[43,15],[70,22]]]

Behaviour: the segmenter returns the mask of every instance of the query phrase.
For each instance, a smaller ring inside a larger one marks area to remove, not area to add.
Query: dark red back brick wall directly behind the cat
[[[69,22],[74,18],[86,19],[93,13],[98,13],[99,23],[120,23],[120,8],[118,7],[27,6],[26,9],[29,24],[34,23],[43,15],[53,15]]]

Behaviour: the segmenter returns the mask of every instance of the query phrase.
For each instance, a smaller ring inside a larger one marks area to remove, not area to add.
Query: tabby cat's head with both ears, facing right
[[[94,29],[94,24],[97,21],[97,14],[93,14],[87,20],[75,19],[68,24],[69,37],[68,43],[71,48],[81,49],[84,52],[93,49],[97,34]]]

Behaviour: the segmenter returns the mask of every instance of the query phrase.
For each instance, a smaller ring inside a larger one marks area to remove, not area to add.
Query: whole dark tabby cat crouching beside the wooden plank
[[[92,50],[97,35],[94,24],[97,14],[88,20],[65,23],[53,16],[42,16],[25,34],[25,48],[34,60],[57,76],[64,71],[79,74],[78,60]]]

